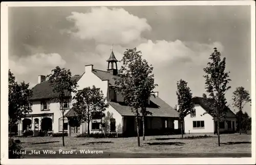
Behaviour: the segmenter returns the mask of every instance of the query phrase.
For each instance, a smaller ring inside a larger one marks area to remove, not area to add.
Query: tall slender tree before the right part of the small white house
[[[214,102],[209,101],[210,109],[207,113],[217,119],[218,145],[220,146],[220,121],[224,120],[227,114],[225,93],[231,88],[228,86],[231,79],[228,78],[229,72],[225,72],[226,58],[221,60],[221,53],[216,47],[209,60],[211,62],[208,62],[208,66],[203,69],[206,73],[203,77],[206,92],[209,93],[209,98],[206,100],[214,100]]]

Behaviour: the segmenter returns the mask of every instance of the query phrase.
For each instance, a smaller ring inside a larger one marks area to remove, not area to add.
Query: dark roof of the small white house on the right
[[[201,105],[206,112],[210,111],[209,102],[212,103],[212,104],[214,104],[214,102],[215,102],[214,99],[210,99],[209,101],[205,101],[203,97],[193,97],[192,100],[193,100],[194,104]],[[229,117],[229,118],[234,117],[235,118],[236,114],[234,114],[227,106],[226,106],[226,108],[227,108],[227,116],[226,117]]]

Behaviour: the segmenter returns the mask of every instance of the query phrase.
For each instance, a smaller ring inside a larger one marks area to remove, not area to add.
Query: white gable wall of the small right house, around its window
[[[196,117],[190,117],[187,115],[184,118],[185,133],[213,133],[214,132],[214,120],[209,114],[205,114],[205,110],[201,105],[195,104]],[[202,116],[201,116],[202,115]],[[204,128],[193,128],[193,121],[204,121]]]

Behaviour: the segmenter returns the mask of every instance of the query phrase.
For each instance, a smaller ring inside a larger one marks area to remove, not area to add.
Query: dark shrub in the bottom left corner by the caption
[[[18,152],[22,152],[22,147],[20,147],[13,139],[9,139],[9,159],[19,159],[22,158],[22,154],[18,154]]]

